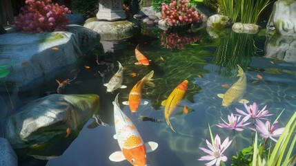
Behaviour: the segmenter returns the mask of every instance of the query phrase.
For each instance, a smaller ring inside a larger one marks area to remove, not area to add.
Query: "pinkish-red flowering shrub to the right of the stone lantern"
[[[199,23],[204,16],[188,5],[188,0],[172,0],[169,5],[162,3],[161,15],[170,26]]]

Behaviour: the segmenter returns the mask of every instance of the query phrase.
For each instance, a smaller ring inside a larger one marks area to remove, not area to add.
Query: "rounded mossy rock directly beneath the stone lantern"
[[[120,41],[128,39],[139,32],[140,22],[137,19],[127,19],[121,21],[102,21],[97,17],[86,20],[83,25],[94,30],[101,35],[101,40]]]

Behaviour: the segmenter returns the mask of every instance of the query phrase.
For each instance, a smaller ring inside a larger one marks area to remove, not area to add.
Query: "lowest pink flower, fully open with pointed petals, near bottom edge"
[[[205,165],[216,165],[219,166],[221,160],[225,162],[227,160],[227,157],[224,156],[224,151],[229,147],[229,145],[233,142],[233,140],[229,141],[229,138],[227,137],[222,145],[221,140],[218,135],[215,136],[214,145],[212,145],[208,140],[206,140],[206,145],[208,146],[208,149],[204,147],[199,147],[202,151],[206,152],[206,156],[202,156],[198,160],[211,160],[209,163],[205,163]]]

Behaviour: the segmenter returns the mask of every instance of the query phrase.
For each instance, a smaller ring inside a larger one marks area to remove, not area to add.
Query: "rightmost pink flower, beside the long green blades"
[[[279,137],[282,135],[285,127],[279,128],[278,122],[274,122],[270,126],[270,121],[266,120],[265,124],[261,120],[256,120],[256,130],[259,131],[262,138],[270,138],[271,140],[277,142],[273,137]]]

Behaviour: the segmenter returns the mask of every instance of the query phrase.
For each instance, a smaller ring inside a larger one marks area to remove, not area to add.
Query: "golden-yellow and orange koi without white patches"
[[[181,82],[168,96],[167,100],[164,100],[161,102],[162,105],[164,105],[164,118],[166,118],[166,123],[170,126],[170,129],[172,131],[176,132],[174,128],[172,128],[172,124],[170,124],[170,115],[173,111],[175,111],[175,108],[177,107],[177,104],[184,98],[186,90],[187,90],[187,84],[188,81],[184,80],[184,82]]]

